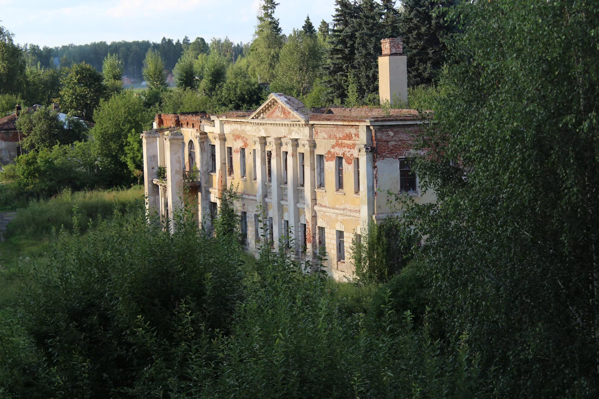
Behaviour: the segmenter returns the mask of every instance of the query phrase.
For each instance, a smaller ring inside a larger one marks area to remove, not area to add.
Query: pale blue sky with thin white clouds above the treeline
[[[301,28],[307,14],[314,27],[331,22],[334,0],[278,0],[275,16],[283,33]],[[229,36],[249,42],[259,0],[0,0],[0,25],[19,44],[55,47],[93,41],[150,40],[196,36],[210,42]]]

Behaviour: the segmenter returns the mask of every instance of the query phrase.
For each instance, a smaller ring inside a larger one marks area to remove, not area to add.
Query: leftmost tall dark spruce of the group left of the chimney
[[[333,29],[328,39],[328,60],[323,66],[327,88],[325,100],[328,102],[346,97],[344,85],[355,59],[355,20],[359,12],[355,1],[335,0],[335,5]]]

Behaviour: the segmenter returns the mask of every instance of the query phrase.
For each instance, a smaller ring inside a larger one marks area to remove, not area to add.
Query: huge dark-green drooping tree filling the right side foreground
[[[589,32],[599,7],[464,2],[452,16],[443,98],[422,143],[432,153],[416,164],[421,189],[437,196],[413,220],[426,236],[432,306],[449,337],[477,337],[494,397],[597,397],[599,69]]]

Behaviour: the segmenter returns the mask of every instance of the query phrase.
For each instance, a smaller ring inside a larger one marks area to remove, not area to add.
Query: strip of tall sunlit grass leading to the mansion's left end
[[[72,212],[76,207],[81,232],[87,230],[89,220],[105,219],[114,210],[127,212],[143,207],[143,188],[135,186],[128,190],[93,190],[72,193],[65,190],[48,200],[35,200],[27,208],[17,209],[17,217],[7,226],[5,237],[40,237],[64,226],[73,229]]]

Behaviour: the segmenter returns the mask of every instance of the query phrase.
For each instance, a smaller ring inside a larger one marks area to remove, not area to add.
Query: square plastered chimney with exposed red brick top
[[[393,95],[407,103],[408,70],[404,42],[401,38],[388,38],[380,41],[383,54],[379,56],[379,97],[381,102],[393,103]]]

